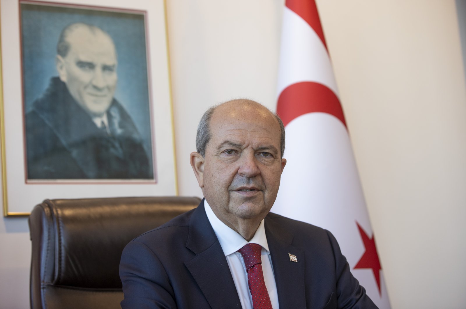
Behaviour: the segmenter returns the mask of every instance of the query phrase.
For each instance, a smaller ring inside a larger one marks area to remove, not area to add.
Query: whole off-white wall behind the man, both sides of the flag
[[[188,157],[205,109],[237,97],[275,106],[284,1],[167,2],[179,193],[200,196]],[[465,308],[466,87],[455,3],[317,5],[392,308]],[[29,246],[25,218],[0,221],[0,308],[28,306]]]

